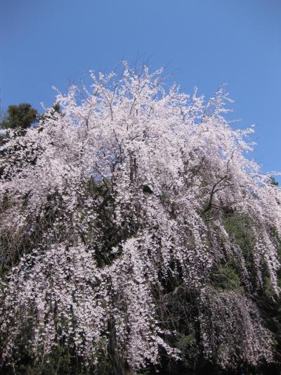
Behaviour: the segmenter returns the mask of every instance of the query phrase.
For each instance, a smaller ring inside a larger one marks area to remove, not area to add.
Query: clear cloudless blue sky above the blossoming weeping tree
[[[183,91],[228,82],[240,127],[256,124],[253,157],[281,170],[280,0],[0,0],[0,47],[4,108],[41,110],[52,85],[139,56],[168,65]]]

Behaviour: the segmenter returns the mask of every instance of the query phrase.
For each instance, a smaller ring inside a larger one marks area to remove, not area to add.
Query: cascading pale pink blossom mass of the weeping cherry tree
[[[206,102],[126,63],[91,78],[1,146],[2,362],[58,345],[91,366],[105,350],[116,374],[181,360],[180,290],[204,358],[272,361],[255,296],[278,295],[281,195],[245,157],[252,128],[230,127],[223,89]]]

